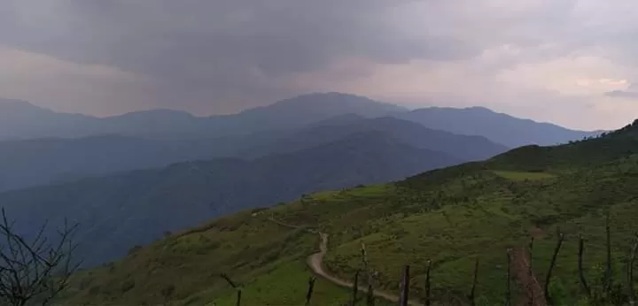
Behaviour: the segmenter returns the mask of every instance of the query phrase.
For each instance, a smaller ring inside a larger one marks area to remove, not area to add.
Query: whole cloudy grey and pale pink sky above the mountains
[[[4,0],[0,96],[109,116],[339,91],[580,129],[638,118],[635,0]]]

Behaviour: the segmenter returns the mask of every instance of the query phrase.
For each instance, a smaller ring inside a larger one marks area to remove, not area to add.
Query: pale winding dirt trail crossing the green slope
[[[293,229],[304,229],[309,233],[318,233],[320,238],[319,252],[307,257],[307,265],[316,275],[321,276],[323,279],[326,279],[337,286],[348,288],[352,288],[354,286],[352,282],[345,279],[339,279],[337,276],[331,275],[329,272],[326,272],[325,269],[323,269],[323,256],[325,256],[325,254],[328,252],[329,235],[327,233],[321,233],[315,229],[307,228],[304,226],[292,226],[278,221],[274,218],[268,218],[268,220],[278,226],[284,226]],[[368,287],[359,286],[358,289],[363,293],[368,293]],[[374,290],[374,295],[389,302],[399,302],[399,296],[384,291]],[[421,306],[423,305],[423,303],[410,300],[408,301],[408,305]]]

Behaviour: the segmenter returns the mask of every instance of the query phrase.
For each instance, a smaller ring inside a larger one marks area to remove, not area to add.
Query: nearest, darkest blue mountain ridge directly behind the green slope
[[[45,219],[55,225],[62,218],[81,223],[81,254],[87,264],[98,264],[166,231],[237,210],[324,189],[400,180],[461,162],[372,131],[254,161],[188,162],[9,191],[0,194],[0,203],[23,225]]]

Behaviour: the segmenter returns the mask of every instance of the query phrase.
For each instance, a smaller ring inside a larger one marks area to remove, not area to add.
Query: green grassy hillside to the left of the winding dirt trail
[[[236,291],[220,277],[244,287],[244,305],[303,305],[307,256],[318,238],[268,221],[251,210],[178,233],[125,260],[79,272],[63,297],[75,305],[234,305]],[[163,290],[173,287],[168,298]],[[315,305],[340,305],[350,290],[318,279]],[[384,303],[377,303],[385,305]]]

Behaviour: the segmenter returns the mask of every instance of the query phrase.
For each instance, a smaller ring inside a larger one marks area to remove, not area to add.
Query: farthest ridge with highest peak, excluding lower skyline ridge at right
[[[388,103],[338,93],[310,94],[234,115],[196,117],[184,111],[136,111],[97,118],[58,113],[33,104],[0,99],[0,140],[122,134],[153,139],[211,138],[294,128],[346,113],[380,117],[406,111]]]

